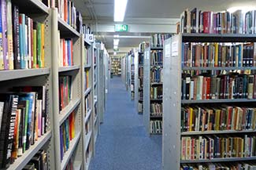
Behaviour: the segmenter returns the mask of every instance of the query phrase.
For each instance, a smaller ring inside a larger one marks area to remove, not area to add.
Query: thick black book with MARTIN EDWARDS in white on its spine
[[[0,132],[0,163],[1,168],[8,168],[13,149],[14,125],[16,121],[19,96],[0,94],[0,101],[5,102]]]

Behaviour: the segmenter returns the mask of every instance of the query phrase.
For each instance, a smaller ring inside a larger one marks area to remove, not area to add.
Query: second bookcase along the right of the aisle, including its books
[[[153,77],[155,70],[160,71],[163,67],[163,61],[159,56],[158,61],[153,62],[154,53],[161,55],[162,47],[149,47],[145,49],[143,60],[143,120],[147,132],[150,135],[161,135],[162,113],[154,113],[151,109],[153,104],[162,103],[162,82],[161,74],[158,80]]]

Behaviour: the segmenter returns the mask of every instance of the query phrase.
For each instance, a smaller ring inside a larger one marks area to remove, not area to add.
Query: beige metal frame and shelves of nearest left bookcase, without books
[[[26,5],[24,5],[26,3]],[[9,165],[8,170],[22,169],[31,161],[39,150],[46,150],[48,159],[53,158],[54,149],[54,114],[52,103],[52,63],[51,63],[51,15],[50,8],[39,1],[26,0],[24,2],[12,1],[12,5],[19,8],[19,13],[24,13],[32,20],[45,24],[45,66],[43,68],[18,69],[0,71],[0,91],[11,92],[17,86],[45,86],[46,88],[46,133],[38,138],[24,153]],[[36,17],[35,17],[36,16]],[[14,38],[14,37],[13,37]],[[2,116],[2,115],[1,115]],[[3,155],[2,155],[3,156]],[[54,162],[48,161],[48,167],[54,168]]]

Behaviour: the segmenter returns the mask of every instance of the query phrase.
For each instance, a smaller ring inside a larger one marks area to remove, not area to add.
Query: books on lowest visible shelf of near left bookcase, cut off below
[[[39,150],[22,170],[47,170],[47,152]]]

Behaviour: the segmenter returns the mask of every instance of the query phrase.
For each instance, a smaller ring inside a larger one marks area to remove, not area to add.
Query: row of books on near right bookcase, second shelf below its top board
[[[191,78],[183,74],[182,99],[256,99],[256,75],[230,73]]]

